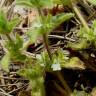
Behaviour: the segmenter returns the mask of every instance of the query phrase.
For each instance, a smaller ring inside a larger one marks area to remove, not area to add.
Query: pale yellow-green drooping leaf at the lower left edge
[[[9,71],[9,64],[10,64],[10,54],[6,53],[6,55],[1,60],[1,65],[2,68],[7,72]]]

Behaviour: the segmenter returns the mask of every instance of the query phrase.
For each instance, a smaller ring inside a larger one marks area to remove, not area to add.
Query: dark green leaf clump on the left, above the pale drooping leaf
[[[26,60],[26,56],[23,55],[21,52],[23,48],[23,40],[18,34],[16,34],[15,41],[8,41],[6,43],[6,48],[10,52],[10,56],[12,59],[22,62]]]

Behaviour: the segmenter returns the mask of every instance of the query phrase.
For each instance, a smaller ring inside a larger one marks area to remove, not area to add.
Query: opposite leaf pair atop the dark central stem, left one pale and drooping
[[[58,27],[64,21],[72,18],[74,14],[72,13],[61,13],[56,16],[52,16],[51,14],[48,16],[43,16],[42,22],[39,19],[34,22],[32,28],[28,31],[28,36],[30,37],[32,42],[36,42],[37,38],[44,33],[49,33]]]

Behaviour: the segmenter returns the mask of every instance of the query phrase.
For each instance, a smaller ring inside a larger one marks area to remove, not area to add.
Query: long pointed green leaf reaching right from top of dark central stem
[[[51,14],[48,14],[47,16],[43,17],[43,24],[41,27],[43,27],[42,31],[45,32],[51,32],[56,27],[58,27],[61,23],[69,20],[74,16],[73,13],[61,13],[57,14],[56,16],[52,16]],[[44,33],[44,32],[42,32]]]

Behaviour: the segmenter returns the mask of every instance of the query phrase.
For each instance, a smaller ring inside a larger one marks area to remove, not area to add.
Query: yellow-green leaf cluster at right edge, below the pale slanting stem
[[[77,33],[78,41],[75,43],[69,42],[68,46],[74,50],[87,49],[89,46],[93,48],[96,47],[96,20],[93,21],[93,24],[89,31],[86,28],[82,27]]]

